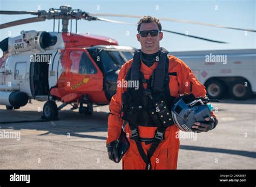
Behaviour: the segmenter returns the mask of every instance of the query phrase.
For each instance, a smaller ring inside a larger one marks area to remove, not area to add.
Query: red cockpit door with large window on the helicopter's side
[[[98,92],[103,90],[103,73],[85,49],[67,50],[69,54],[67,87],[70,91]]]

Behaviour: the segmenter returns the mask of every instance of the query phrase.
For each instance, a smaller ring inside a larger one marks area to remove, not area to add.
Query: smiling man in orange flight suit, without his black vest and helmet
[[[142,32],[144,31],[144,32]],[[163,39],[161,32],[161,24],[157,18],[144,16],[138,22],[137,39],[142,46],[140,72],[144,74],[145,79],[150,79],[153,70],[157,67],[158,61],[156,56],[159,52],[159,41]],[[127,61],[119,72],[118,81],[125,80],[129,68],[132,66],[132,59]],[[197,78],[193,75],[190,68],[180,59],[169,56],[169,87],[170,95],[178,97],[180,94],[193,94],[196,97],[205,97],[206,91]],[[146,89],[147,82],[143,82]],[[117,93],[113,95],[110,102],[110,115],[108,119],[107,130],[107,147],[109,158],[118,161],[116,150],[117,140],[120,136],[124,120],[120,117],[122,108],[122,94],[126,91],[126,87],[117,87]],[[194,123],[192,128],[196,132],[212,130],[218,123],[213,112],[212,117],[207,117],[205,123]],[[153,138],[157,127],[138,126],[139,137]],[[137,144],[131,140],[131,129],[127,124],[125,126],[130,147],[123,156],[123,169],[145,169],[146,163],[140,155]],[[176,125],[167,127],[165,130],[165,139],[160,142],[153,155],[150,157],[151,169],[177,169],[179,138],[177,133],[179,128]],[[141,142],[145,153],[149,151],[151,144]]]

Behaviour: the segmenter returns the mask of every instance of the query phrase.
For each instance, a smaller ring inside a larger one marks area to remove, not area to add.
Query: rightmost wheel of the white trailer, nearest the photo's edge
[[[245,100],[252,96],[252,89],[249,82],[245,86],[246,81],[235,81],[230,87],[230,95],[235,100]]]

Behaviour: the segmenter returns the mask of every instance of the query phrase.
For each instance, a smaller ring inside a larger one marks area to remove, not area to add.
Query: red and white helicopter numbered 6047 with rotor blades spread
[[[77,20],[137,25],[97,16],[130,18],[143,16],[93,14],[72,9],[69,5],[60,6],[59,9],[51,8],[48,11],[0,11],[0,15],[23,14],[37,17],[4,23],[0,25],[0,29],[53,19],[53,32],[21,31],[19,36],[8,37],[1,41],[3,57],[0,58],[0,105],[5,105],[6,109],[18,109],[31,99],[46,101],[43,107],[43,119],[56,120],[58,111],[67,105],[71,105],[71,109],[78,108],[80,114],[91,115],[93,105],[109,104],[112,96],[116,94],[119,70],[126,61],[133,58],[135,48],[119,46],[112,38],[90,33],[78,34]],[[55,31],[56,19],[58,31]],[[256,32],[251,29],[189,20],[159,19]],[[60,20],[62,20],[61,32]],[[72,33],[72,20],[76,21],[75,33]],[[215,43],[226,43],[170,30],[162,31]],[[62,104],[57,107],[56,101],[61,101]]]

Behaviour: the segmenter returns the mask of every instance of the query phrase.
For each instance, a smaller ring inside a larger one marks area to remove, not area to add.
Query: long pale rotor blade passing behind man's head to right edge
[[[122,14],[113,14],[113,13],[90,13],[90,15],[92,15],[92,16],[109,16],[109,17],[126,17],[126,18],[142,18],[143,17],[143,16],[138,16],[138,15],[122,15]],[[237,27],[224,26],[224,25],[218,25],[218,24],[208,24],[208,23],[204,23],[204,22],[193,22],[191,20],[184,20],[184,19],[172,19],[172,18],[164,18],[164,17],[158,18],[158,19],[165,20],[168,22],[188,23],[188,24],[194,24],[194,25],[220,27],[220,28],[224,28],[224,29],[256,32],[256,30],[253,30],[253,29],[241,29],[241,28],[237,28]]]

